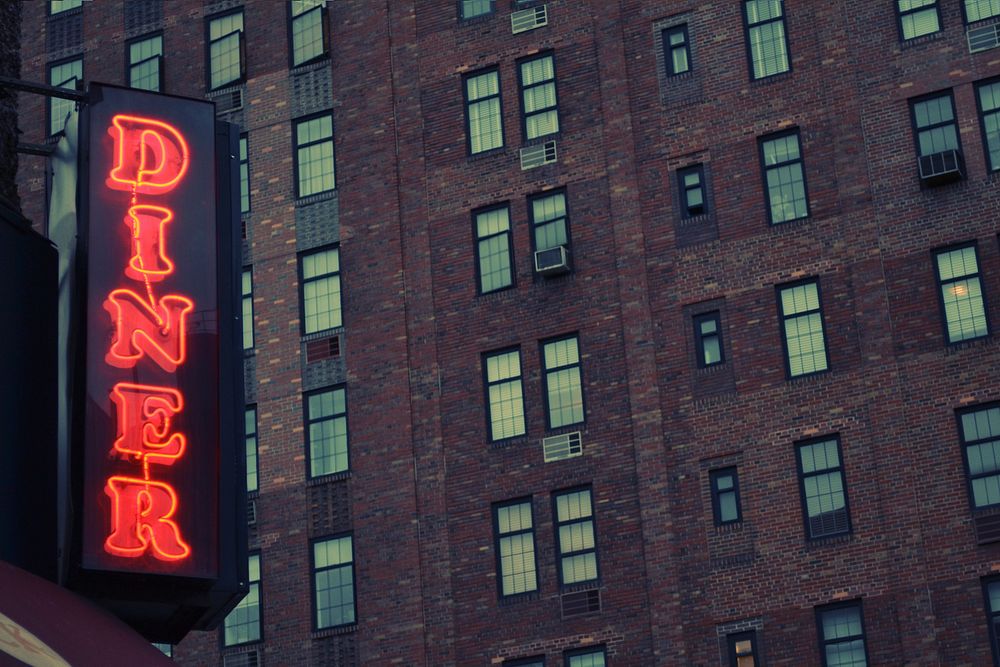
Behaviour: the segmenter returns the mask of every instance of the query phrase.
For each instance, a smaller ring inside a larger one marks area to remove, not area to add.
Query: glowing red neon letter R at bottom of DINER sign
[[[191,547],[171,521],[177,494],[169,484],[116,475],[108,478],[104,493],[111,498],[111,534],[104,541],[105,551],[137,558],[149,549],[166,561],[190,555]]]

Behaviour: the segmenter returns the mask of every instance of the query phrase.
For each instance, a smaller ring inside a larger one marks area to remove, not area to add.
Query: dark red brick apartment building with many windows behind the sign
[[[49,4],[24,78],[246,133],[255,581],[177,662],[1000,664],[996,0]]]

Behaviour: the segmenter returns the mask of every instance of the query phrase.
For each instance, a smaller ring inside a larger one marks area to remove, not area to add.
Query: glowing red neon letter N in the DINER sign
[[[191,299],[168,294],[156,308],[129,289],[108,294],[104,310],[115,325],[115,338],[104,360],[116,368],[132,368],[143,356],[173,373],[187,358],[185,333],[187,314],[194,310]]]

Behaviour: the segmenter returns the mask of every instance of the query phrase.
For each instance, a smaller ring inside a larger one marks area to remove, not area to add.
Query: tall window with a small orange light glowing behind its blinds
[[[934,267],[941,288],[948,342],[960,343],[988,335],[989,323],[975,244],[935,253]]]

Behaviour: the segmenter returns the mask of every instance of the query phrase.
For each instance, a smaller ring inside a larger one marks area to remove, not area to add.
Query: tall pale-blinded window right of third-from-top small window
[[[787,287],[779,286],[778,308],[788,377],[820,373],[829,368],[819,283],[810,280]]]

